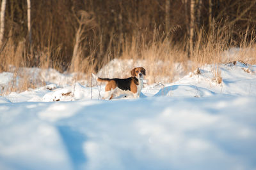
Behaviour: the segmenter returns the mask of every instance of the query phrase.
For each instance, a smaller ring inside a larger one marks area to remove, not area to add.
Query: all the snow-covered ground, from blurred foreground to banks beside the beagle
[[[44,87],[0,96],[0,169],[256,169],[256,66],[218,67],[220,84],[206,65],[113,101],[43,71]]]

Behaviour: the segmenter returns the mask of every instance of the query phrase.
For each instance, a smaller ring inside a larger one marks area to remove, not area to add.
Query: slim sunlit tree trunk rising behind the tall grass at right
[[[193,38],[195,32],[195,0],[190,3],[190,24],[189,24],[189,57],[193,53]]]

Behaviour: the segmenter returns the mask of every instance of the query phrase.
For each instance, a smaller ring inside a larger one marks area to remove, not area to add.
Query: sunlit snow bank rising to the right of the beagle
[[[221,83],[214,78],[220,71]],[[198,73],[197,73],[198,72]],[[142,90],[146,96],[205,97],[215,95],[256,96],[256,66],[244,62],[205,65],[175,83],[154,84]]]

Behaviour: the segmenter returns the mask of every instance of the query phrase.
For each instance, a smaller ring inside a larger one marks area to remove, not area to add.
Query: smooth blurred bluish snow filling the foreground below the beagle
[[[0,104],[0,167],[255,169],[255,103],[211,96]]]

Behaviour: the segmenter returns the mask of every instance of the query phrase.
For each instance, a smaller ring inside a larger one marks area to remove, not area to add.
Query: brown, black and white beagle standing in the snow
[[[111,100],[113,97],[124,94],[125,96],[140,97],[140,92],[143,87],[143,77],[146,75],[146,70],[143,67],[136,67],[131,71],[129,78],[97,78],[97,81],[108,82],[105,87],[104,99]]]

